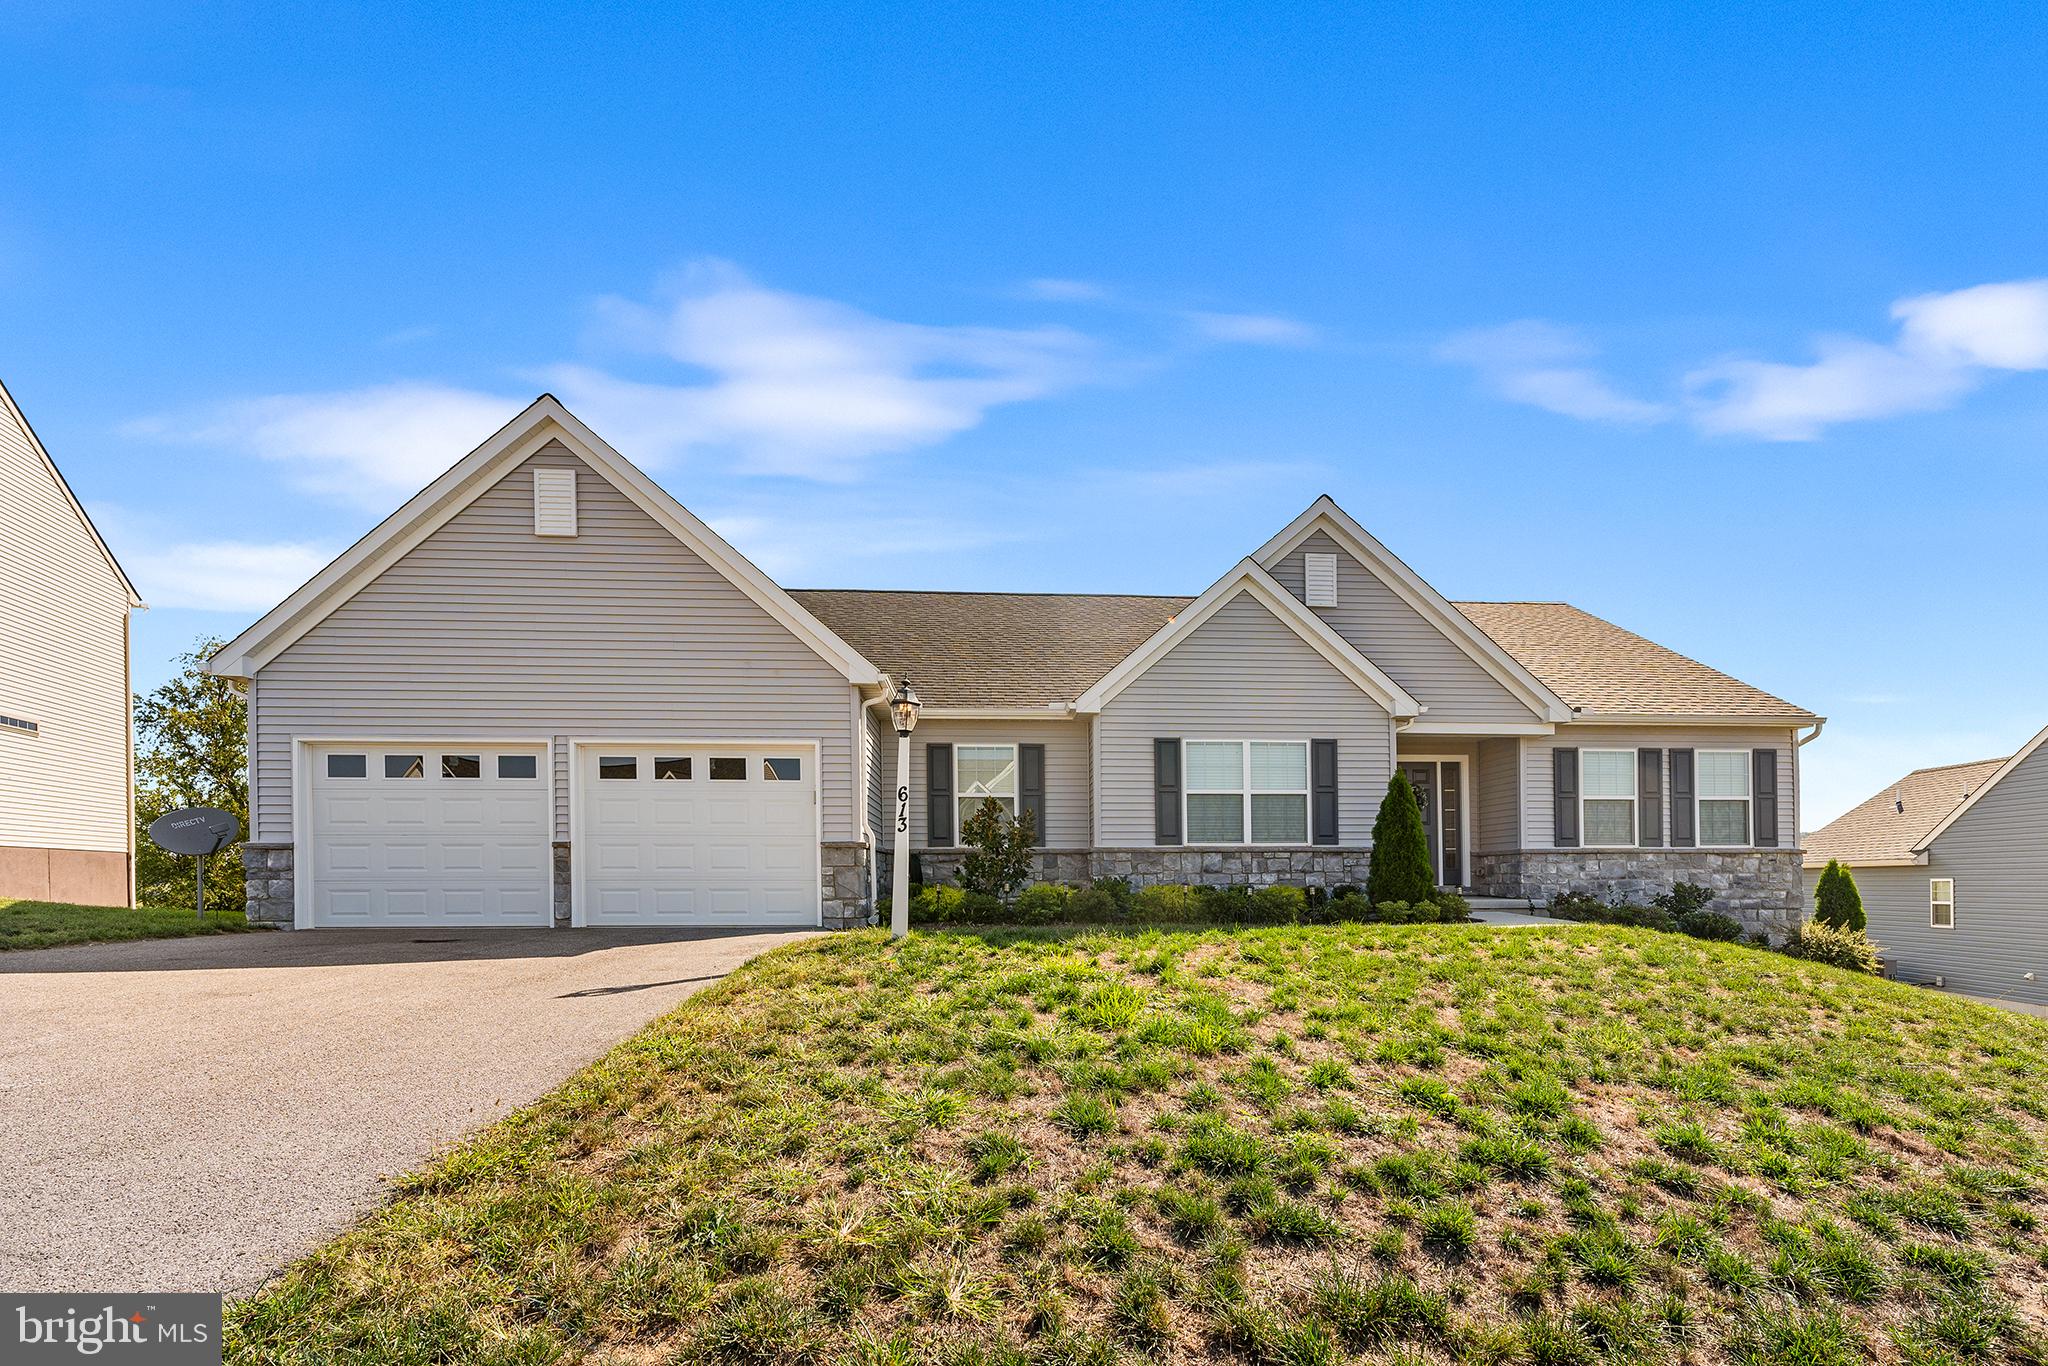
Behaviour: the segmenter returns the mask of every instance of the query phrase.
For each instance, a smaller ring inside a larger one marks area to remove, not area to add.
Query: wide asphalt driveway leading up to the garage
[[[0,1290],[250,1290],[801,934],[319,930],[0,954]]]

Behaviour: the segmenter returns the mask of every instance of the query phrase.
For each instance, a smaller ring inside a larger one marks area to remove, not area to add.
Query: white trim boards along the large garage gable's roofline
[[[520,416],[498,428],[489,440],[406,500],[397,512],[342,551],[328,567],[299,586],[297,592],[264,612],[256,625],[227,641],[207,661],[207,672],[229,678],[254,676],[264,664],[289,649],[293,641],[326,621],[358,588],[397,563],[401,555],[475,502],[508,469],[553,440],[559,440],[571,455],[639,504],[647,516],[723,573],[733,588],[748,594],[762,610],[786,627],[791,635],[840,670],[850,684],[860,688],[881,686],[881,670],[868,664],[860,651],[834,635],[825,623],[817,621],[803,604],[782,592],[774,580],[676,502],[668,489],[612,451],[602,436],[584,426],[551,393],[543,393],[528,403]]]

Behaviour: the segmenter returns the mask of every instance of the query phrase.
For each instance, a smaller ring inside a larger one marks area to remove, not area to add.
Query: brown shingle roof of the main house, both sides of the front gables
[[[1047,707],[1087,692],[1192,598],[791,590],[848,645],[907,674],[932,707]],[[1573,707],[1810,721],[1812,713],[1565,602],[1458,602]],[[1370,651],[1366,651],[1370,653]]]

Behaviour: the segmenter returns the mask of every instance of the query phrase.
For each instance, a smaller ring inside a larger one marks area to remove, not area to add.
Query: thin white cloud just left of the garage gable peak
[[[504,426],[516,397],[430,383],[236,399],[127,424],[133,436],[223,446],[297,467],[303,487],[362,506],[414,494]]]

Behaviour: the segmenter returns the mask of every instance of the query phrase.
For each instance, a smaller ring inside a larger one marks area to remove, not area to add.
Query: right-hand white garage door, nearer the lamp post
[[[815,926],[815,750],[584,743],[573,864],[592,926]]]

